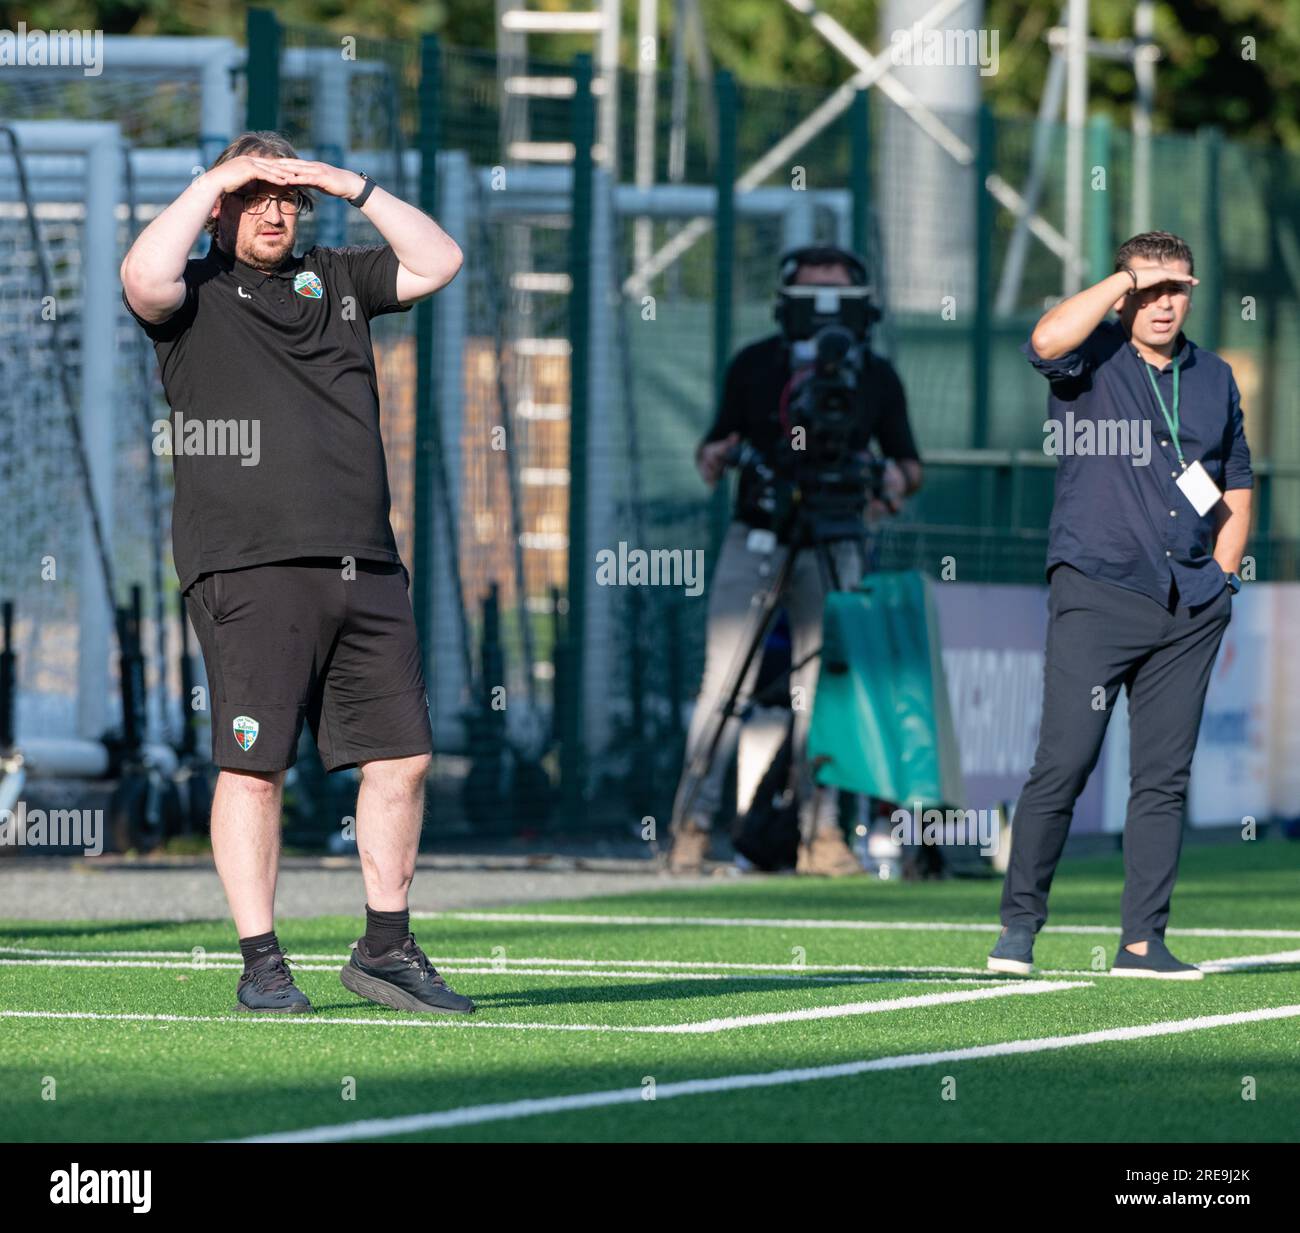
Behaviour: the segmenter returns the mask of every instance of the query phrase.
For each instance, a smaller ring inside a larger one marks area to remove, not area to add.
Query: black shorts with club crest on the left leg
[[[304,558],[204,574],[186,590],[217,766],[292,766],[304,719],[326,770],[432,752],[406,568],[350,572]]]

